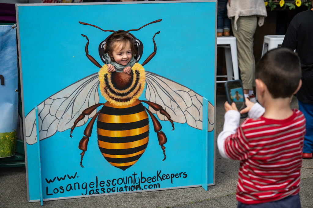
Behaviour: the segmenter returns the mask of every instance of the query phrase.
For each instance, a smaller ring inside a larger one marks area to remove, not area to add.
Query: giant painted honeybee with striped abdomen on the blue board
[[[130,31],[136,32],[148,25],[157,27],[157,22],[161,21],[162,19],[159,19],[128,31],[104,30],[98,26],[80,22],[80,24],[96,27],[111,34],[124,32],[130,36],[136,43],[135,47],[138,51],[136,64],[131,68],[129,75],[118,72],[108,73],[103,55],[105,43],[111,35],[99,45],[99,55],[104,62],[101,66],[94,57],[89,55],[89,50],[94,50],[88,49],[89,41],[92,40],[82,34],[87,40],[86,56],[100,70],[60,90],[38,105],[40,140],[51,137],[57,131],[63,132],[68,129],[71,129],[70,136],[81,137],[75,135],[73,130],[87,123],[84,136],[79,142],[79,148],[82,150],[80,165],[83,167],[83,156],[87,151],[93,125],[97,121],[100,152],[112,166],[126,170],[138,161],[148,145],[150,129],[148,114],[163,151],[163,160],[166,159],[164,144],[167,142],[167,137],[166,132],[162,132],[158,119],[169,121],[172,130],[174,130],[174,122],[187,123],[192,128],[201,130],[203,97],[192,89],[143,68],[149,61],[153,61],[152,58],[156,55],[157,44],[154,39],[160,31],[152,37],[154,51],[142,64],[139,64],[143,54],[143,44]],[[105,103],[99,103],[99,86],[101,94],[107,100]],[[147,100],[139,100],[144,88],[146,88]],[[146,103],[148,108],[142,103]],[[98,111],[97,108],[100,106],[102,107]],[[212,131],[214,106],[211,103],[208,103],[208,118],[204,119],[208,119],[208,131]],[[28,144],[34,144],[37,142],[35,109],[27,114],[25,123],[26,141]]]

